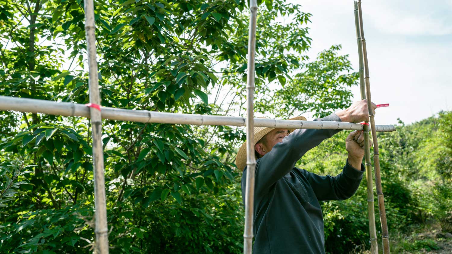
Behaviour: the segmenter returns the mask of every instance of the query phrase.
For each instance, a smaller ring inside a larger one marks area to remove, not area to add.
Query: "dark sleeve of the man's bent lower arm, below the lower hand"
[[[308,171],[303,171],[303,173],[305,173],[318,200],[344,200],[355,194],[363,179],[364,171],[363,163],[361,163],[361,170],[357,170],[347,160],[342,172],[334,177],[317,175]]]

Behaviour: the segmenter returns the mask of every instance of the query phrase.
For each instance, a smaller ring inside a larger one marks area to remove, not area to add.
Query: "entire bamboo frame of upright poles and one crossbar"
[[[357,20],[357,10],[359,18],[359,34],[357,24],[358,54],[360,55],[360,84],[361,98],[367,97],[367,106],[369,109],[369,118],[371,122],[372,137],[374,144],[374,162],[375,178],[377,186],[378,205],[380,208],[380,218],[382,226],[383,253],[389,254],[389,240],[386,225],[386,213],[384,208],[383,193],[381,191],[380,164],[378,157],[377,131],[395,131],[393,125],[375,125],[374,115],[371,110],[370,83],[367,64],[366,43],[363,32],[363,22],[361,14],[361,0],[358,1],[358,7],[355,2],[355,22]],[[358,9],[357,9],[358,8]],[[100,105],[99,84],[96,60],[95,46],[95,27],[94,27],[94,3],[93,0],[85,0],[85,32],[87,40],[88,63],[89,63],[89,102]],[[95,253],[108,254],[108,226],[107,210],[105,199],[104,183],[104,158],[102,150],[102,118],[111,120],[135,121],[142,123],[168,123],[168,124],[189,124],[189,125],[231,125],[247,126],[247,178],[245,192],[245,230],[244,230],[244,254],[252,253],[253,240],[253,208],[254,208],[254,170],[256,161],[254,158],[254,146],[251,140],[254,136],[254,126],[270,128],[294,128],[294,129],[352,129],[364,130],[365,145],[368,146],[369,134],[368,126],[348,122],[329,122],[329,121],[301,121],[301,120],[276,120],[254,118],[254,58],[256,41],[256,0],[250,0],[250,30],[248,45],[248,77],[247,77],[247,117],[231,117],[222,115],[192,115],[177,114],[154,111],[136,111],[102,107],[102,112],[94,108],[88,108],[85,105],[70,102],[52,102],[38,99],[15,98],[0,96],[0,110],[22,111],[33,113],[45,113],[50,115],[63,116],[81,116],[90,117],[93,135],[93,166],[94,166],[94,197],[95,197],[95,234],[96,245]],[[361,37],[361,41],[359,38]],[[361,51],[362,50],[362,51]],[[363,54],[363,56],[361,56]],[[364,94],[362,59],[365,65],[365,85],[366,94]],[[373,211],[373,189],[372,189],[372,167],[370,164],[370,151],[366,152],[366,176],[367,176],[367,197],[369,206],[369,230],[371,233],[372,254],[377,254],[377,240],[375,233],[375,216]],[[370,184],[369,184],[370,179]],[[372,200],[371,200],[372,199]],[[372,209],[371,209],[372,206]],[[373,218],[373,220],[371,220]],[[372,240],[372,222],[375,241]],[[372,246],[373,246],[372,245]]]

